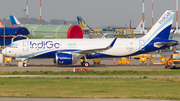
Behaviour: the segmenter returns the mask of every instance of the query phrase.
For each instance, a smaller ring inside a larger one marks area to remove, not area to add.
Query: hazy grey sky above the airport
[[[142,1],[143,0],[41,0],[41,15],[42,19],[46,21],[50,21],[51,19],[76,21],[76,17],[81,16],[90,27],[95,28],[111,25],[128,27],[131,20],[131,26],[136,27],[142,20]],[[154,23],[166,10],[176,10],[176,0],[153,1]],[[29,18],[34,17],[39,19],[40,0],[28,0],[28,4]],[[144,5],[145,27],[151,27],[152,0],[145,0]],[[180,5],[180,2],[178,5]],[[26,0],[1,0],[0,19],[9,18],[9,15],[22,18],[25,16],[23,9],[26,9]],[[180,20],[180,13],[178,19]],[[175,21],[173,22],[173,26],[175,26]]]

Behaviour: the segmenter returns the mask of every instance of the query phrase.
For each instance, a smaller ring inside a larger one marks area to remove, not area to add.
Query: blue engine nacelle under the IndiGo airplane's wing
[[[72,64],[73,61],[73,55],[67,54],[67,53],[56,53],[56,64],[58,65],[66,65],[66,64]]]

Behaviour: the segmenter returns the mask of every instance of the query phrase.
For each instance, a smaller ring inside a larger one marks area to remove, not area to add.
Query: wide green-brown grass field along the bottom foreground
[[[178,78],[0,78],[2,97],[180,100]]]

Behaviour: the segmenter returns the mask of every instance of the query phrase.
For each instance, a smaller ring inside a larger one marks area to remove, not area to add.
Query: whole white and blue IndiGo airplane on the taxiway
[[[165,11],[141,38],[25,39],[11,43],[2,53],[21,60],[54,58],[58,65],[75,64],[83,59],[82,66],[88,67],[86,59],[126,57],[178,45],[178,41],[168,40],[174,15],[175,11]]]

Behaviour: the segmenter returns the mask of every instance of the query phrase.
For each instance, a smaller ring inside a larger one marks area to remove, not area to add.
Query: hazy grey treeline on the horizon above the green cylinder
[[[19,22],[21,24],[26,24],[26,18],[17,18],[19,20]],[[3,20],[3,19],[0,19],[0,21],[6,26],[6,27],[11,27],[11,21],[10,19],[7,19],[7,20]],[[37,19],[37,18],[29,18],[28,19],[28,24],[39,24],[40,23],[40,20]],[[77,24],[77,21],[66,21],[66,20],[63,20],[63,19],[52,19],[50,22],[48,21],[45,21],[44,19],[41,20],[41,24],[42,25],[76,25]]]

